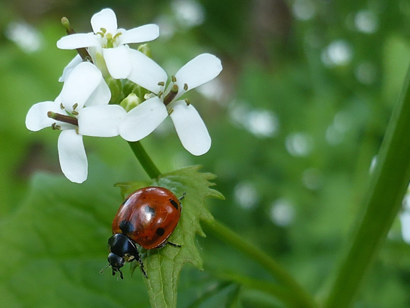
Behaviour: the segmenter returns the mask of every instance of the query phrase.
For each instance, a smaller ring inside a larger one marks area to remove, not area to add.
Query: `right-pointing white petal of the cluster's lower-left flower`
[[[127,112],[119,105],[92,106],[78,115],[78,131],[85,136],[118,136],[118,126]]]

